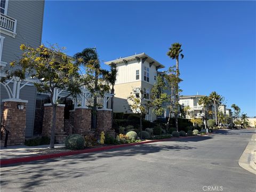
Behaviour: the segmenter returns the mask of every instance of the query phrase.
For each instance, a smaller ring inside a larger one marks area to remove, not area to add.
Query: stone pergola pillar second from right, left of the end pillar
[[[73,133],[85,135],[91,132],[91,109],[77,107],[74,114]]]

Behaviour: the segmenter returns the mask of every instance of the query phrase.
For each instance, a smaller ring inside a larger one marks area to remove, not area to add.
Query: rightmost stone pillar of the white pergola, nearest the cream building
[[[111,126],[111,109],[98,109],[97,110],[97,135],[100,135],[101,131],[105,134],[109,134],[115,137],[115,131]]]

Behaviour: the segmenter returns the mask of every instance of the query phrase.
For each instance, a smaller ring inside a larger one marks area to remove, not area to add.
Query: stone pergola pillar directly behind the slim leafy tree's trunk
[[[55,135],[64,134],[64,108],[65,108],[65,105],[63,104],[59,104],[57,106]],[[51,137],[52,117],[53,117],[52,105],[50,103],[44,104],[44,119],[43,119],[43,129],[42,129],[43,136]]]

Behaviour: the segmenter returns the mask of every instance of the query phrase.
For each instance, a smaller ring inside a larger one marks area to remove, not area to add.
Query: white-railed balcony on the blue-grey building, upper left
[[[0,17],[1,33],[12,36],[14,38],[16,36],[16,26],[17,26],[16,19],[13,19],[1,13],[1,17]]]

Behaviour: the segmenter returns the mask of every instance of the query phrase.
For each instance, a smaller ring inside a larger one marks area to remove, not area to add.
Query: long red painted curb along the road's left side
[[[211,134],[211,133],[209,133],[209,134]],[[93,153],[93,152],[96,152],[96,151],[103,151],[103,150],[109,150],[109,149],[129,147],[129,146],[134,146],[134,145],[142,145],[142,144],[146,144],[146,143],[153,143],[153,142],[160,142],[160,141],[170,141],[170,140],[179,140],[179,139],[191,138],[191,137],[195,138],[195,137],[201,137],[201,136],[203,136],[203,135],[188,136],[188,137],[182,137],[182,138],[148,140],[148,141],[142,141],[142,142],[137,142],[137,143],[127,143],[127,144],[122,144],[122,145],[115,145],[115,146],[106,146],[106,147],[99,147],[99,148],[92,148],[92,149],[66,151],[66,152],[57,153],[57,154],[47,154],[47,155],[30,156],[30,157],[1,159],[0,160],[0,165],[2,166],[2,165],[9,165],[9,164],[25,163],[25,162],[38,161],[38,160],[43,160],[43,159],[48,159],[48,158],[57,158],[57,157],[77,155],[77,154]]]

